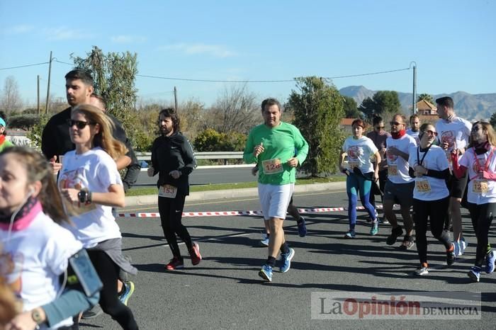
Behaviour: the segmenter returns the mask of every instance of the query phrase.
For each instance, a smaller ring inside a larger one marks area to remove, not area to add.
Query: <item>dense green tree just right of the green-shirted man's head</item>
[[[301,166],[310,176],[335,173],[337,157],[344,141],[339,123],[344,116],[343,98],[326,79],[317,76],[296,78],[288,107],[294,111],[294,125],[309,144],[308,157]]]

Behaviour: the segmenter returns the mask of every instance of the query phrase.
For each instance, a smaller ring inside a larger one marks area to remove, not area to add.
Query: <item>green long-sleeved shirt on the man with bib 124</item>
[[[264,152],[255,158],[253,149],[260,143]],[[295,182],[295,167],[286,164],[288,159],[296,157],[298,164],[302,164],[307,154],[308,143],[300,130],[294,125],[281,122],[274,128],[264,124],[254,127],[249,132],[243,159],[248,164],[258,164],[259,183],[281,186]]]

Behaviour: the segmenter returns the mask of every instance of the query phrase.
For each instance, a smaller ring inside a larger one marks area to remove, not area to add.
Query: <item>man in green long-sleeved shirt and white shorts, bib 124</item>
[[[275,98],[267,98],[261,103],[261,114],[264,124],[254,127],[249,133],[243,159],[246,163],[259,165],[259,200],[271,232],[269,256],[259,276],[271,282],[279,249],[282,273],[291,268],[291,259],[295,255],[284,238],[283,220],[293,195],[295,168],[305,161],[308,143],[298,128],[281,122],[281,103]],[[295,150],[298,150],[296,155]]]

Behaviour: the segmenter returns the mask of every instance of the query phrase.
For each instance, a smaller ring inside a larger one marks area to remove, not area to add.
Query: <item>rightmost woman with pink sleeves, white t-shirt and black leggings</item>
[[[496,133],[490,123],[478,121],[472,125],[470,143],[466,152],[458,158],[451,152],[453,173],[461,178],[468,173],[467,201],[470,219],[477,236],[475,265],[468,277],[479,282],[485,261],[485,272],[495,270],[495,254],[488,243],[487,234],[492,217],[496,215]]]

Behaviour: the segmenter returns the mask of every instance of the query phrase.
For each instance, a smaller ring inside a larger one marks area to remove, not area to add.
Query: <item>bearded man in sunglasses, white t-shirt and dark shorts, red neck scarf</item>
[[[410,207],[413,203],[413,188],[415,181],[408,172],[409,149],[416,147],[415,139],[405,132],[405,115],[396,114],[390,122],[391,136],[386,140],[388,149],[386,151],[388,159],[388,181],[384,188],[384,215],[389,220],[391,227],[390,236],[386,239],[386,244],[393,245],[396,239],[403,234],[401,226],[398,224],[393,205],[400,204],[403,224],[405,224],[405,238],[400,249],[410,249],[414,245],[413,221],[410,215]]]

